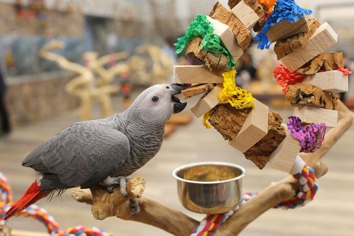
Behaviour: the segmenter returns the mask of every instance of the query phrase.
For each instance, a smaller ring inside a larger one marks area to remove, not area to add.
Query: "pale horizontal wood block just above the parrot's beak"
[[[173,80],[176,83],[224,83],[225,71],[207,66],[173,66]]]

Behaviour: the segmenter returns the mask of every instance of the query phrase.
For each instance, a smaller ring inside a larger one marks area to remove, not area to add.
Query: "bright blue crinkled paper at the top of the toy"
[[[267,37],[269,29],[277,22],[286,20],[288,22],[296,22],[304,15],[310,15],[311,10],[304,10],[296,5],[294,0],[278,0],[275,4],[274,11],[270,14],[263,28],[256,35],[255,39],[259,41],[258,49],[269,49],[271,43]]]

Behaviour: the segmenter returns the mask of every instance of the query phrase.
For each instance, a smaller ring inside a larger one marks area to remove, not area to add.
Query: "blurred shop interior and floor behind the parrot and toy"
[[[23,195],[36,177],[33,170],[21,167],[21,162],[37,145],[73,122],[124,111],[146,87],[172,82],[173,65],[197,65],[185,52],[176,55],[173,43],[184,36],[196,15],[208,15],[215,2],[0,0],[0,169],[13,187],[14,200]],[[229,9],[227,0],[219,2]],[[335,3],[297,0],[296,3],[311,9],[310,17],[321,24],[327,21],[331,25],[338,34],[338,42],[326,52],[342,52],[344,66],[354,70],[354,3],[351,0]],[[252,35],[255,36],[253,31]],[[253,97],[269,105],[270,111],[286,118],[292,115],[293,108],[285,101],[273,76],[274,68],[279,65],[273,46],[270,50],[258,50],[257,42],[252,39],[250,48],[238,61],[236,81]],[[349,75],[349,91],[341,96],[351,109],[354,108],[352,76]],[[189,111],[196,99],[188,100],[185,109],[192,120],[184,126],[173,126],[174,132],[166,137],[160,153],[135,175],[147,179],[144,196],[202,219],[202,215],[188,212],[179,203],[175,180],[170,176],[174,168],[195,161],[236,162],[248,170],[245,192],[259,192],[286,175],[267,167],[258,170],[215,130],[206,130],[201,119],[193,118]],[[332,157],[327,159],[330,171],[321,179],[325,182],[328,178],[325,183],[328,188],[322,195],[319,192],[318,201],[315,198],[314,203],[296,213],[271,210],[241,235],[298,235],[299,232],[352,235],[354,206],[350,199],[354,198],[354,165],[349,158],[353,129],[345,135],[328,154]],[[342,159],[333,160],[339,156]],[[114,235],[170,235],[137,222],[113,218],[96,221],[90,206],[76,203],[70,192],[51,203],[38,203],[47,208],[63,229],[84,224],[104,228]],[[334,192],[345,192],[341,204],[334,200],[338,198]],[[309,223],[314,218],[315,223]],[[294,221],[299,223],[290,224]],[[46,231],[32,219],[16,217],[9,224],[20,230]],[[299,224],[304,225],[306,232],[299,229]],[[335,224],[339,226],[333,229]]]

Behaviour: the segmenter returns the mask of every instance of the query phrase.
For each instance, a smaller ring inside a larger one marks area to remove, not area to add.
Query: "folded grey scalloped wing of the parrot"
[[[128,138],[112,125],[75,123],[34,149],[22,162],[43,173],[41,192],[80,185],[91,187],[128,157]]]

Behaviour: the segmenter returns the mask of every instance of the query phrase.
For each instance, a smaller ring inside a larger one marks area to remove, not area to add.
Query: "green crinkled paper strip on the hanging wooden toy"
[[[214,34],[213,24],[210,23],[204,15],[198,15],[190,24],[186,35],[178,38],[178,42],[174,43],[176,46],[176,54],[181,53],[188,42],[196,36],[203,38],[202,50],[212,53],[226,53],[228,56],[228,68],[231,69],[237,66],[237,63],[231,60],[229,51],[222,46],[220,37]]]

